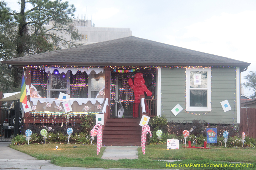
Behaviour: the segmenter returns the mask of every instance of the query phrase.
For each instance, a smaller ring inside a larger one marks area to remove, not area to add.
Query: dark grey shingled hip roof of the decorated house
[[[22,65],[235,66],[250,63],[134,36],[2,61]]]

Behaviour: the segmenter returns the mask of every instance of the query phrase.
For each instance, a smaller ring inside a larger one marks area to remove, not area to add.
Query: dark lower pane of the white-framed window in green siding
[[[190,90],[190,107],[207,107],[207,90]]]

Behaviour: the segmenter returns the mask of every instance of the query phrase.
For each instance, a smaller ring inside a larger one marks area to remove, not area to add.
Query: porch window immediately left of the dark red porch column
[[[88,98],[96,98],[105,86],[105,74],[90,74],[88,78]]]

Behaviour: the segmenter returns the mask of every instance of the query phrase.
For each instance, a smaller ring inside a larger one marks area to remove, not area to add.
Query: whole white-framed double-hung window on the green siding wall
[[[211,111],[211,68],[187,68],[186,111]]]

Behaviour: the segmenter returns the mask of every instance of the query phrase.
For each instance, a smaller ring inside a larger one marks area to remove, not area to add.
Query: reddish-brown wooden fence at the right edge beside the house
[[[249,129],[249,130],[248,130]],[[240,134],[243,132],[246,136],[256,138],[256,109],[240,109]]]

